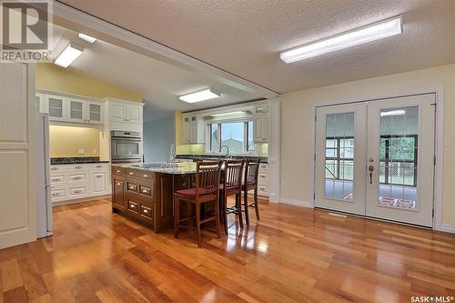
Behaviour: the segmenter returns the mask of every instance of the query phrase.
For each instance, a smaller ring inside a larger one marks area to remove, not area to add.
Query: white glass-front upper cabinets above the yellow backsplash
[[[51,121],[103,124],[103,103],[76,97],[36,94],[36,111]]]

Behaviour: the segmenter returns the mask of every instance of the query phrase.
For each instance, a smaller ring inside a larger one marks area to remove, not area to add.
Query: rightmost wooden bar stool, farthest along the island
[[[245,165],[245,177],[243,180],[242,190],[243,190],[243,203],[245,211],[245,219],[247,220],[247,225],[249,225],[249,216],[248,208],[254,207],[256,210],[256,219],[259,220],[259,206],[258,206],[258,173],[259,173],[259,160],[256,161],[247,161]],[[248,204],[248,191],[254,190],[254,202]]]

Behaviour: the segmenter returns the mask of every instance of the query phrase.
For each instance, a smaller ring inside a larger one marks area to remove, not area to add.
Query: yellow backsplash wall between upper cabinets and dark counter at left
[[[84,149],[79,155],[78,150]],[[49,126],[51,157],[98,157],[99,131],[95,128]]]

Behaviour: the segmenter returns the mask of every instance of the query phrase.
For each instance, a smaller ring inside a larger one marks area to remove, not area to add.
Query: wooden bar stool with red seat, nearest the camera
[[[202,247],[201,238],[201,225],[215,221],[217,228],[216,233],[221,237],[221,229],[219,227],[219,177],[221,171],[222,161],[217,162],[197,162],[196,168],[196,187],[188,189],[180,189],[174,193],[174,232],[175,237],[178,237],[180,227],[197,230],[197,247]],[[188,207],[192,204],[196,208],[196,227],[189,225],[189,211],[186,218],[180,219],[180,202],[188,202]],[[205,217],[201,220],[201,205],[206,203],[215,203],[215,214],[212,217]],[[187,225],[180,225],[180,223],[187,221]]]

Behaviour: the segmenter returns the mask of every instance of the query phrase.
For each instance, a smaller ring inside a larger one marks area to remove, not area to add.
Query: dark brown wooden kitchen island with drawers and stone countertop
[[[195,163],[112,165],[112,210],[147,224],[156,233],[174,225],[174,192],[189,188]]]

